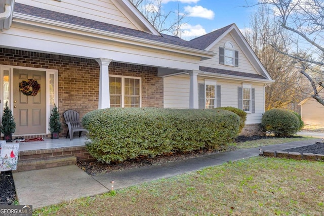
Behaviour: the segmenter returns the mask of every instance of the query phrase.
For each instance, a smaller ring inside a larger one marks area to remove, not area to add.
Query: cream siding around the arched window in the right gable
[[[227,41],[231,42],[234,46],[234,50],[238,51],[238,67],[219,64],[219,47],[224,47]],[[210,51],[217,53],[217,55],[212,59],[201,61],[200,66],[257,74],[251,62],[237,46],[234,38],[230,34],[224,36]]]

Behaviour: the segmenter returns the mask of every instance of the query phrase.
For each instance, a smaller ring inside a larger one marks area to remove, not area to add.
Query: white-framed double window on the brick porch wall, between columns
[[[141,78],[109,76],[110,107],[141,107]]]

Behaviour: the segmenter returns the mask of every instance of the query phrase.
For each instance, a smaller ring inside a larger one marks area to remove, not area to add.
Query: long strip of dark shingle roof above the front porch
[[[131,28],[125,28],[117,25],[112,25],[108,23],[103,23],[91,19],[85,19],[82,17],[76,17],[68,14],[63,14],[55,11],[49,11],[42,8],[36,8],[24,4],[15,3],[15,9],[14,12],[31,15],[35,17],[45,18],[49,20],[69,23],[73,25],[103,30],[107,32],[113,32],[123,35],[128,35],[132,37],[138,37],[143,38],[147,40],[157,41],[157,42],[164,42],[166,44],[176,45],[180,47],[186,47],[186,48],[193,48],[198,49],[192,45],[189,44],[188,41],[180,39],[179,37],[170,36],[166,34],[162,34],[162,36],[149,34],[143,31],[131,29]],[[199,49],[198,49],[199,50]]]

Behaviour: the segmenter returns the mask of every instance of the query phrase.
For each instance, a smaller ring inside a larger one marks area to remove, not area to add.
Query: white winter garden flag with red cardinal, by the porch
[[[0,141],[0,172],[17,169],[19,143]]]

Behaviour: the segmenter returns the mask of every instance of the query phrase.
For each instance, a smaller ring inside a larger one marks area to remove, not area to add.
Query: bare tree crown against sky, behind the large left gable
[[[168,12],[163,10],[163,0],[130,1],[160,33],[172,33],[175,36],[181,36],[182,27],[186,24],[187,14],[180,12],[179,1],[177,10]]]

